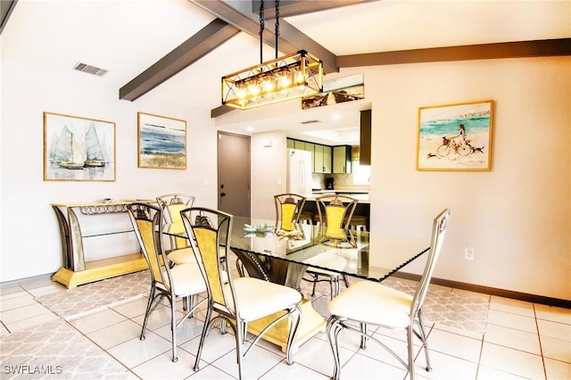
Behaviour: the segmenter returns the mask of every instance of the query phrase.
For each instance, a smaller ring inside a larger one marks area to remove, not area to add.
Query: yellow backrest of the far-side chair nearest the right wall
[[[316,201],[319,222],[326,227],[325,235],[334,239],[344,239],[359,201],[351,196],[333,194],[319,196]]]

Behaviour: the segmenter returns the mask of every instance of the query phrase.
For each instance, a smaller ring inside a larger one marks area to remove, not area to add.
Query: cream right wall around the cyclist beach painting
[[[365,73],[371,229],[427,233],[451,208],[434,276],[571,299],[571,58],[441,62]],[[492,99],[492,170],[416,170],[418,108]],[[466,245],[476,260],[464,259]],[[417,268],[418,269],[418,268]]]

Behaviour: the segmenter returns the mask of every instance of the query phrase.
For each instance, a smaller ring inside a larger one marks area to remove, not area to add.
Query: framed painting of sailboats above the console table
[[[114,181],[115,123],[44,112],[45,181]]]

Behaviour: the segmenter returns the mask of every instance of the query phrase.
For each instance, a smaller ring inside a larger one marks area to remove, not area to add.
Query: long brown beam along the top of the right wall
[[[571,55],[571,38],[340,55],[339,67]]]

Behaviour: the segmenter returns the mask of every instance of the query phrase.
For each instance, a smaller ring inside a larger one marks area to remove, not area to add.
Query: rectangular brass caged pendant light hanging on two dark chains
[[[323,62],[300,50],[277,57],[279,2],[276,0],[276,59],[263,62],[264,0],[260,1],[260,64],[222,77],[222,104],[240,110],[323,92]]]

